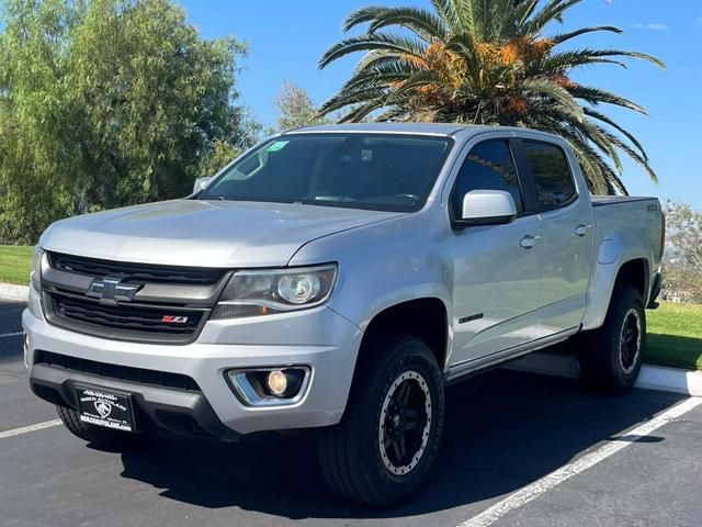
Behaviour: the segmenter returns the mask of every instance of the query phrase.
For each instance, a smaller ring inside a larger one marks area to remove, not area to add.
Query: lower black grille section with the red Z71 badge
[[[197,329],[203,315],[201,311],[174,310],[166,306],[101,305],[97,300],[65,294],[53,294],[52,299],[54,301],[54,312],[61,318],[139,333],[192,335]],[[171,317],[170,319],[173,319],[172,317],[185,317],[185,321],[165,322],[165,318],[168,319],[169,317]]]

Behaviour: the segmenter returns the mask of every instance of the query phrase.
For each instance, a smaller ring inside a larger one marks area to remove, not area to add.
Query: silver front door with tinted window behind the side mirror
[[[501,190],[514,199],[518,216],[508,224],[453,232],[452,366],[485,358],[535,338],[542,259],[541,218],[525,199],[510,141],[473,146],[451,192],[452,217],[472,190]]]

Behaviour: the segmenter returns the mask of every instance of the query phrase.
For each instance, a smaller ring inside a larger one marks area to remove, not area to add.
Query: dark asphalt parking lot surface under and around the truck
[[[426,491],[377,512],[331,495],[314,444],[302,438],[157,435],[143,450],[116,453],[63,426],[26,431],[56,414],[27,386],[15,335],[22,309],[0,302],[0,525],[702,525],[697,400],[595,395],[512,371],[473,378],[449,389],[444,445]]]

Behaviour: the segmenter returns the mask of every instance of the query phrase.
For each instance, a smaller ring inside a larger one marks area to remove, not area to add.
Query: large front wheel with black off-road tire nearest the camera
[[[388,507],[426,481],[441,441],[443,379],[421,340],[376,337],[364,350],[344,415],[318,440],[321,471],[337,495]]]

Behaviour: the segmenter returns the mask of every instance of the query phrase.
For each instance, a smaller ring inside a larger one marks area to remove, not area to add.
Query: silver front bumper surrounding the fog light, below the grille
[[[30,302],[36,300],[32,294]],[[75,381],[118,389],[135,394],[138,412],[149,426],[182,431],[169,424],[170,417],[163,416],[186,416],[195,423],[195,429],[224,439],[260,430],[337,424],[346,407],[362,337],[355,325],[326,306],[282,315],[212,321],[205,324],[195,343],[184,346],[125,343],[78,334],[53,326],[29,310],[22,315],[22,325],[27,334],[25,363],[31,370],[30,382],[43,399],[75,407]],[[199,392],[35,363],[42,352],[186,375],[195,381]],[[246,405],[225,379],[230,369],[281,366],[309,368],[305,393],[291,404]]]

